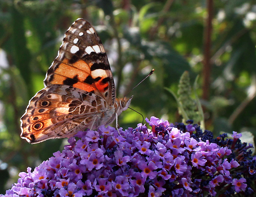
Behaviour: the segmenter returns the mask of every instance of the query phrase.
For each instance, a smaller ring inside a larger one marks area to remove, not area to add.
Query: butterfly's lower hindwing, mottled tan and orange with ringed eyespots
[[[30,100],[21,118],[22,138],[37,143],[72,136],[77,129],[98,127],[100,112],[107,106],[104,99],[91,92],[67,85],[49,85]]]

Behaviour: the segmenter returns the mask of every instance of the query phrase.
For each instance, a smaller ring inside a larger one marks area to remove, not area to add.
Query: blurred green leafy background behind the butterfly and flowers
[[[45,73],[57,55],[65,31],[77,18],[98,31],[122,97],[154,68],[155,73],[128,96],[131,107],[180,122],[175,98],[187,70],[199,74],[204,90],[205,28],[208,0],[0,0],[0,193],[17,181],[18,172],[35,167],[62,150],[66,139],[31,145],[20,138],[20,117],[28,100],[42,89]],[[201,99],[205,128],[250,130],[256,135],[256,3],[214,1],[209,96]],[[209,47],[209,46],[208,46]],[[193,95],[193,94],[192,94]],[[196,97],[194,95],[194,98]],[[127,110],[121,127],[136,127],[142,117]]]

